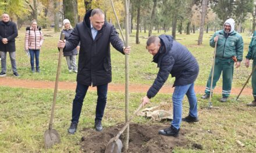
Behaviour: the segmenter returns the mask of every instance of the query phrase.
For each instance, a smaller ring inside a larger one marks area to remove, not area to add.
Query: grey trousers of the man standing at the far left
[[[0,51],[1,54],[1,68],[2,68],[2,72],[6,73],[6,55],[7,52],[2,52]],[[12,71],[17,72],[17,67],[16,67],[16,61],[15,61],[15,52],[9,52],[9,56],[10,56],[10,64],[12,64]]]

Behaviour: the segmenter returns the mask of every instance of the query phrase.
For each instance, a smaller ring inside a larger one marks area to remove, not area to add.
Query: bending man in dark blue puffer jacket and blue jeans
[[[169,128],[159,130],[159,134],[165,136],[179,135],[180,123],[198,122],[197,116],[197,97],[194,92],[194,81],[199,72],[199,66],[194,56],[181,45],[173,40],[170,35],[151,36],[147,41],[147,49],[152,54],[153,61],[157,63],[159,71],[157,78],[151,88],[147,92],[147,96],[143,97],[143,105],[150,102],[158,91],[162,88],[163,83],[168,79],[169,74],[175,77],[173,87],[173,120]],[[184,95],[189,99],[189,115],[182,119],[182,100]]]

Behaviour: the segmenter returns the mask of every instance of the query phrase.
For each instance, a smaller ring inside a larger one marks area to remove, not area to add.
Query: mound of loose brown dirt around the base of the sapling
[[[102,132],[96,132],[93,129],[84,129],[85,133],[81,139],[82,150],[84,152],[104,152],[108,141],[118,134],[123,125],[113,126],[104,129]],[[160,125],[130,125],[130,138],[128,152],[172,152],[176,146],[186,146],[189,144],[185,139],[185,130],[180,130],[179,137],[166,137],[158,134],[158,130],[167,128],[168,126]],[[120,136],[123,143],[124,136]]]

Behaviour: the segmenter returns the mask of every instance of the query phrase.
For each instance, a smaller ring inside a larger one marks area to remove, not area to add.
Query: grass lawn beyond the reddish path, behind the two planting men
[[[20,74],[19,79],[33,79],[42,81],[54,81],[56,76],[56,68],[58,64],[58,49],[56,48],[56,43],[58,42],[60,33],[55,33],[52,28],[43,29],[42,32],[45,35],[45,41],[42,45],[40,52],[40,74],[32,74],[30,72],[30,60],[24,53],[24,34],[25,27],[19,30],[19,36],[16,39],[16,60],[17,60],[17,70]],[[158,68],[157,64],[152,63],[152,56],[145,49],[145,42],[147,41],[148,33],[140,33],[140,44],[135,43],[135,32],[130,35],[130,46],[132,52],[129,56],[129,80],[133,84],[149,84],[154,81],[157,76]],[[170,34],[171,31],[166,32]],[[203,44],[201,46],[197,45],[198,33],[177,34],[176,39],[178,42],[185,45],[191,53],[198,60],[200,65],[200,74],[195,82],[196,85],[205,85],[209,76],[209,72],[212,65],[212,56],[214,53],[214,48],[209,46],[209,39],[214,32],[209,32],[204,34]],[[153,35],[163,34],[157,33],[157,31],[152,32]],[[250,37],[245,33],[242,33],[244,39],[244,57],[247,54],[248,45],[250,43]],[[111,60],[112,60],[112,83],[125,83],[125,56],[117,52],[115,49],[111,49]],[[78,56],[77,56],[78,60]],[[7,74],[12,75],[12,70],[10,67],[10,60],[7,60]],[[241,67],[234,70],[233,86],[241,87],[246,81],[248,75],[250,75],[251,67],[246,68],[244,63]],[[66,60],[62,58],[62,71],[60,81],[75,82],[76,74],[70,74],[67,71]],[[169,77],[166,85],[172,85],[174,79]],[[217,86],[222,85],[222,79],[220,79]],[[248,84],[251,86],[251,83]]]

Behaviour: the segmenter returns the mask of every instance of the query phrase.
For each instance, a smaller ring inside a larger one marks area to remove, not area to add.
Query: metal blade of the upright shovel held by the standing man
[[[49,149],[52,145],[60,143],[59,133],[55,129],[46,130],[44,133],[45,148]]]

